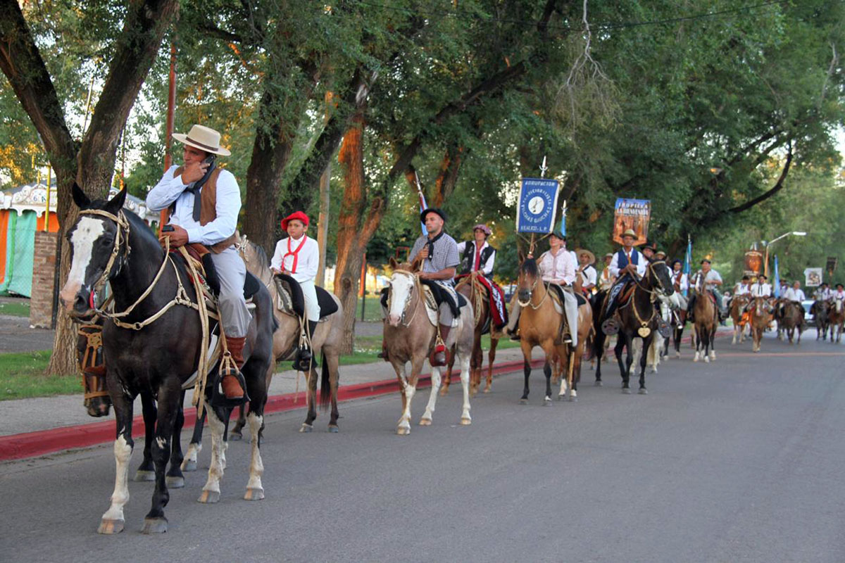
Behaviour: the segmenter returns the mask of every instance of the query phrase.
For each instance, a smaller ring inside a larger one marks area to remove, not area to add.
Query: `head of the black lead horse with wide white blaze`
[[[93,304],[95,285],[111,277],[120,268],[120,261],[112,259],[120,226],[111,219],[117,217],[126,201],[123,189],[109,201],[92,202],[74,182],[74,202],[83,212],[74,226],[68,230],[70,244],[70,273],[59,292],[59,299],[72,317],[89,317]],[[85,211],[99,210],[104,214],[86,214]],[[106,268],[110,271],[106,272]]]

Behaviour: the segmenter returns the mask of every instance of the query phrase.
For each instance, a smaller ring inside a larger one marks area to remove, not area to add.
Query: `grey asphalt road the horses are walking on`
[[[248,444],[234,442],[221,502],[197,503],[204,471],[187,474],[161,536],[139,533],[147,483],[129,486],[125,532],[95,533],[111,447],[7,463],[0,560],[845,560],[845,346],[718,342],[711,364],[685,346],[645,396],[585,370],[580,402],[543,407],[536,371],[523,406],[511,374],[473,400],[471,426],[458,386],[420,427],[417,395],[411,436],[395,436],[395,395],[342,404],[336,435],[271,415],[264,501],[241,499]]]

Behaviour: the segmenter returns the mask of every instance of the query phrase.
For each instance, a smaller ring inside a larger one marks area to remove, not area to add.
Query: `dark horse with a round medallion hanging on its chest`
[[[654,333],[658,327],[655,302],[657,296],[661,293],[670,299],[676,299],[673,298],[675,290],[668,266],[663,260],[654,260],[646,266],[646,275],[635,281],[633,290],[630,290],[630,296],[625,299],[623,295],[619,295],[622,301],[620,301],[615,314],[619,319],[620,328],[613,351],[616,354],[619,373],[622,376],[622,392],[626,394],[631,392],[630,369],[634,361],[634,338],[642,339],[643,349],[648,350],[651,347],[651,340],[654,338]],[[674,305],[678,306],[677,301]],[[602,311],[606,306],[605,300],[605,303],[602,303]],[[597,355],[596,385],[599,387],[602,386],[604,340],[608,338],[608,334],[602,331],[602,316],[602,314],[598,314],[595,317],[596,339],[593,342],[593,351]],[[627,357],[623,361],[622,350],[625,348],[628,351]],[[647,354],[640,356],[640,390],[638,392],[641,395],[648,392],[646,390],[646,356]]]

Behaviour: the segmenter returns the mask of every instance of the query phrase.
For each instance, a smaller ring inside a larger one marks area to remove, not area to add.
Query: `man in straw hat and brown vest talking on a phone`
[[[235,250],[237,214],[241,210],[241,191],[232,172],[218,168],[217,155],[228,156],[220,146],[220,133],[210,127],[194,125],[187,135],[173,133],[185,145],[184,164],[167,169],[161,180],[147,194],[147,208],[160,211],[171,208],[170,236],[175,248],[191,243],[207,246],[220,279],[217,306],[226,332],[226,345],[237,369],[243,367],[243,344],[249,327],[249,311],[243,299],[246,264]],[[228,399],[243,398],[236,376],[223,378],[223,392]]]

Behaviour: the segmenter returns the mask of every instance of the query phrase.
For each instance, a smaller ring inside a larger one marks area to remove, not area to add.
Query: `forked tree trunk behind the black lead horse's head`
[[[70,252],[64,234],[77,217],[76,209],[71,205],[70,187],[77,181],[91,198],[101,198],[108,190],[120,133],[141,84],[150,72],[161,40],[177,19],[178,11],[177,0],[130,3],[90,128],[77,146],[65,124],[63,107],[52,78],[19,3],[0,0],[0,70],[30,116],[56,171],[59,240],[63,241],[57,257],[59,284],[67,279],[70,271]],[[76,332],[69,317],[59,314],[53,353],[47,367],[49,373],[69,375],[76,371],[75,339]]]

